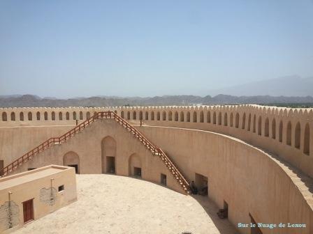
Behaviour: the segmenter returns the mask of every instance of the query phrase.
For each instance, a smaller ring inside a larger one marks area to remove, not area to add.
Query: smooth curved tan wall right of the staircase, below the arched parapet
[[[208,178],[208,194],[228,219],[249,224],[252,215],[263,224],[305,224],[306,228],[261,228],[262,233],[313,233],[311,178],[243,141],[203,130],[138,127],[161,146],[188,180]],[[250,233],[250,228],[238,228]]]

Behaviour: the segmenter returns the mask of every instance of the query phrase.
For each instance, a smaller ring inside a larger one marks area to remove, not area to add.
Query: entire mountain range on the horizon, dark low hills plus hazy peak
[[[281,77],[211,90],[210,95],[163,95],[118,97],[99,95],[90,98],[41,98],[38,95],[0,95],[0,107],[114,107],[197,104],[305,104],[313,105],[313,77]],[[220,94],[225,93],[225,94]],[[211,96],[212,95],[212,96]],[[299,105],[296,105],[299,106]]]

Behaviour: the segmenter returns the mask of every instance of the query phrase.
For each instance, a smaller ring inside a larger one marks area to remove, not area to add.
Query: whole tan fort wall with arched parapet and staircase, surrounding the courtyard
[[[233,226],[313,233],[313,109],[254,104],[0,109],[3,176],[50,164],[139,176],[182,194],[191,180]],[[1,166],[0,166],[1,168]],[[239,233],[250,233],[238,228]]]

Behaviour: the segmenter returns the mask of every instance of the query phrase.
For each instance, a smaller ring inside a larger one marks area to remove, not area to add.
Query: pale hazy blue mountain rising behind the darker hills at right
[[[313,77],[301,78],[298,76],[267,79],[263,81],[250,82],[228,88],[214,89],[208,91],[211,95],[224,93],[227,95],[270,95],[305,97],[313,96]]]

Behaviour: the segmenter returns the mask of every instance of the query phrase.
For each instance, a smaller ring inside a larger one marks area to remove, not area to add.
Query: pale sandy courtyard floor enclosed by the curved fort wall
[[[203,196],[112,175],[77,175],[78,201],[33,221],[14,234],[237,233]]]

